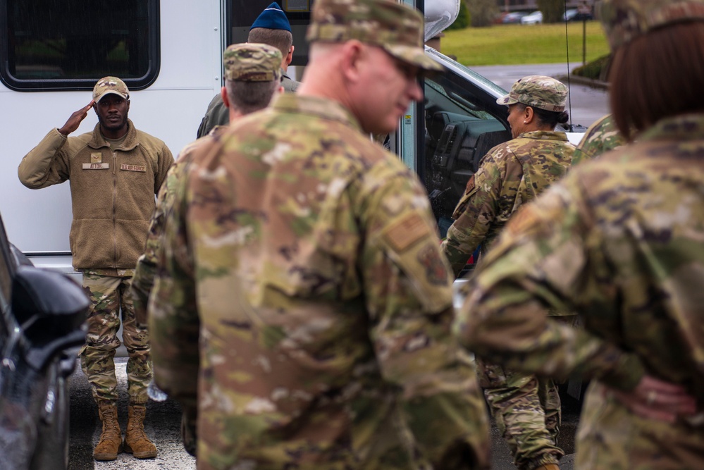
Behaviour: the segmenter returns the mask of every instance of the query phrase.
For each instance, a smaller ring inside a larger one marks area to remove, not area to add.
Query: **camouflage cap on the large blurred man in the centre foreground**
[[[425,55],[423,16],[393,0],[317,0],[306,39],[345,42],[357,39],[425,70],[443,70]]]

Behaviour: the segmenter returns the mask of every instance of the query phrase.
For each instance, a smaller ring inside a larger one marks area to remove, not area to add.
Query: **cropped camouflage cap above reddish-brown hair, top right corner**
[[[656,27],[704,20],[704,0],[602,0],[595,11],[616,49]]]

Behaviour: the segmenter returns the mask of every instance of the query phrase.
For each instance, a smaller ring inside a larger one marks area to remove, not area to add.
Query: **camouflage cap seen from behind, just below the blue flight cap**
[[[273,82],[281,78],[281,51],[268,44],[232,44],[223,52],[225,78],[235,82]]]

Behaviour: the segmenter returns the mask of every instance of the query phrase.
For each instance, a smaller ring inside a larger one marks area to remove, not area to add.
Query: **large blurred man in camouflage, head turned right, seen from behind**
[[[192,156],[149,325],[157,384],[197,395],[200,470],[487,468],[424,187],[368,136],[438,68],[422,27],[395,1],[316,1],[298,93]]]

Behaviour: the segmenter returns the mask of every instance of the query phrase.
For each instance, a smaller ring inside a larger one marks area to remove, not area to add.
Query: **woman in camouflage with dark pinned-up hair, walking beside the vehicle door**
[[[569,119],[564,111],[567,87],[541,75],[521,78],[498,100],[509,108],[513,139],[486,154],[455,209],[443,252],[455,276],[480,245],[490,247],[496,235],[522,204],[535,199],[561,178],[572,161],[574,145],[558,123]],[[552,312],[572,323],[574,314]],[[514,372],[477,357],[479,383],[496,425],[521,470],[555,469],[564,452],[557,447],[560,396],[548,378]]]

